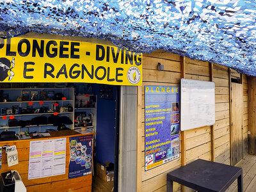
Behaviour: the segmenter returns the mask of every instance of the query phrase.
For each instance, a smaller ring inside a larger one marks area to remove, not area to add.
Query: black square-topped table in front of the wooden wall
[[[173,191],[173,181],[200,192],[225,191],[236,179],[242,192],[242,168],[197,159],[167,174],[167,191]]]

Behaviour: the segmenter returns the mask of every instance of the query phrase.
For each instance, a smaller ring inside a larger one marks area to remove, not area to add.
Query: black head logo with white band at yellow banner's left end
[[[0,58],[0,81],[4,81],[6,77],[9,77],[8,81],[11,81],[14,76],[14,72],[12,71],[14,67],[14,58],[12,58],[12,61],[6,58]]]

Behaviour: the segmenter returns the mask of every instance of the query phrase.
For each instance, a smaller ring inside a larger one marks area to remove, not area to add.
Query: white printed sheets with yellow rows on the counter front
[[[66,173],[66,138],[30,141],[28,179]]]

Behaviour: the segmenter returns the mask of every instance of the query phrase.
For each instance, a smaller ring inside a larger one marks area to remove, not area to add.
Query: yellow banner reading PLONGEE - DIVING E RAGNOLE
[[[142,53],[66,40],[0,40],[0,82],[142,84]]]

